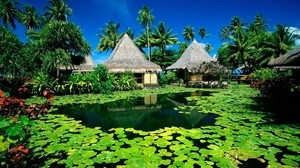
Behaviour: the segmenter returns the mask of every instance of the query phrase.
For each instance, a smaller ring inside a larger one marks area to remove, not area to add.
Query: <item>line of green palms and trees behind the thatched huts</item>
[[[137,21],[143,32],[134,38],[134,31],[128,27],[120,32],[120,23],[110,21],[97,34],[100,38],[97,50],[108,52],[115,48],[124,33],[127,33],[145,56],[163,69],[174,63],[195,39],[194,27],[187,25],[183,31],[183,42],[178,40],[171,28],[160,21],[153,25],[155,17],[152,10],[143,6],[138,11]],[[59,67],[68,67],[84,62],[91,54],[91,46],[84,39],[79,26],[69,21],[72,9],[63,0],[48,0],[44,13],[40,14],[34,6],[19,7],[15,0],[0,1],[0,70],[10,76],[33,76],[44,72],[52,77],[58,76]],[[14,34],[16,21],[26,27],[28,42],[21,42]],[[243,68],[251,73],[264,68],[270,59],[284,54],[295,45],[295,39],[286,25],[276,25],[274,32],[261,15],[256,15],[250,24],[240,17],[233,17],[228,25],[220,30],[220,39],[224,42],[218,48],[218,61],[230,69]],[[203,43],[210,36],[205,28],[198,29]],[[178,49],[168,48],[178,45]],[[144,51],[147,48],[147,52]],[[213,47],[205,43],[210,52]]]

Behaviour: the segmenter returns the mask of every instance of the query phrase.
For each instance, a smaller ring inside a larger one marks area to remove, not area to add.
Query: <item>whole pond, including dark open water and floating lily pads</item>
[[[300,166],[299,123],[276,122],[254,101],[259,93],[249,86],[210,91],[162,94],[168,93],[162,88],[151,94],[58,97],[55,108],[37,120],[30,163],[113,168]]]

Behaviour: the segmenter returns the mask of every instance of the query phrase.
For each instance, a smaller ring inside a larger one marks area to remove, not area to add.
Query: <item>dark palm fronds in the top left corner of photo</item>
[[[0,1],[0,17],[6,28],[10,24],[13,29],[16,29],[15,19],[19,20],[20,11],[16,8],[19,3],[14,0]]]

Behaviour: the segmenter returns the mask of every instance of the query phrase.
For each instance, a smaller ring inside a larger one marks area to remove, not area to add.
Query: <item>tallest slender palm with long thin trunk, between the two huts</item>
[[[152,26],[152,23],[154,21],[154,16],[151,13],[152,10],[150,10],[147,6],[143,6],[142,9],[139,10],[139,16],[137,18],[137,20],[142,24],[142,26],[146,28],[149,61],[151,59],[149,27]]]

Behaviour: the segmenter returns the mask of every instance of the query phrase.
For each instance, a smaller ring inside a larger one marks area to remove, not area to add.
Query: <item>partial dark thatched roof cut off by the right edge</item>
[[[268,63],[269,66],[273,66],[273,67],[278,67],[278,68],[282,68],[282,67],[286,67],[286,68],[296,68],[299,69],[300,68],[300,48],[295,48],[287,53],[285,53],[284,55],[275,58],[273,60],[271,60]]]

